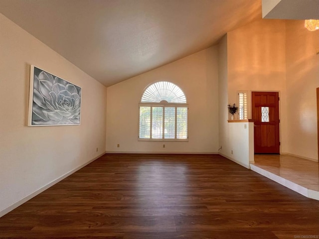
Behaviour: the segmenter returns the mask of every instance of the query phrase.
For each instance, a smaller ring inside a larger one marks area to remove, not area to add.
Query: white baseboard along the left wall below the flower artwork
[[[78,171],[79,169],[83,168],[84,166],[88,165],[89,163],[93,162],[94,160],[98,159],[99,157],[101,157],[102,155],[104,155],[104,153],[100,154],[99,156],[91,159],[90,161],[80,165],[79,167],[72,169],[71,171],[67,172],[66,174],[63,174],[62,176],[58,177],[57,179],[51,181],[50,183],[44,185],[43,187],[39,188],[38,190],[34,191],[33,193],[30,193],[29,195],[27,195],[26,197],[18,200],[17,202],[11,204],[10,206],[4,208],[3,210],[0,211],[0,217],[4,216],[5,214],[7,214],[8,212],[12,211],[13,209],[19,207],[20,205],[22,205],[23,203],[29,201],[31,198],[35,197],[36,195],[38,195],[39,193],[42,193],[44,190],[48,189],[49,187],[53,186],[54,184],[60,182],[62,179],[65,179],[66,177],[70,176],[72,173]]]

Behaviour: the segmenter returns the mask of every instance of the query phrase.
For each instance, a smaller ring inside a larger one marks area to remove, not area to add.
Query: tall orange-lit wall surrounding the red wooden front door
[[[228,32],[228,100],[237,103],[237,91],[278,91],[281,151],[288,148],[286,100],[285,20],[262,19]]]

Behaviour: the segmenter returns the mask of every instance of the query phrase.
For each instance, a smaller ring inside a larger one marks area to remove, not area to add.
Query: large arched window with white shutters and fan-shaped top
[[[186,103],[183,91],[173,83],[150,85],[140,102],[139,140],[187,141]]]

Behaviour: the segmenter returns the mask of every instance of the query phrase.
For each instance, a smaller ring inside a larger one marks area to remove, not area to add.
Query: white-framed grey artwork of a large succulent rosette
[[[79,125],[81,92],[81,87],[31,65],[28,126]]]

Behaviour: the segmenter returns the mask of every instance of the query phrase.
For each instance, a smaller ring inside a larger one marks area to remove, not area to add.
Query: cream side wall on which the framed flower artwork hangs
[[[81,125],[26,126],[30,64],[82,87]],[[0,102],[0,216],[105,152],[106,88],[2,14]]]

